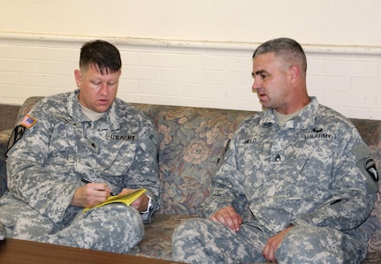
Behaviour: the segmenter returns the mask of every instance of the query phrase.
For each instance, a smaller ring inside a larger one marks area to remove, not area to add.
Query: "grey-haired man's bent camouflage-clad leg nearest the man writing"
[[[173,257],[186,262],[261,262],[267,236],[255,227],[242,225],[239,232],[208,219],[181,223],[172,238]]]

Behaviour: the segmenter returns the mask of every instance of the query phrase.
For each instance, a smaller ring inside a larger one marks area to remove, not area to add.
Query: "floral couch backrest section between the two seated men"
[[[202,216],[211,176],[250,111],[134,104],[156,125],[163,203],[160,213]]]

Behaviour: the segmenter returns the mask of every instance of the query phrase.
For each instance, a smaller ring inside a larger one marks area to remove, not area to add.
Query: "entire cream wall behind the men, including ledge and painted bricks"
[[[0,103],[72,91],[81,44],[102,38],[121,51],[127,102],[259,110],[252,52],[288,36],[310,95],[381,119],[380,32],[380,1],[0,0]]]

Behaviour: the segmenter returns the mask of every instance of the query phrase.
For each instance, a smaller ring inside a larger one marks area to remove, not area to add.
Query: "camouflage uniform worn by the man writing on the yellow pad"
[[[8,152],[9,192],[0,199],[7,236],[124,253],[144,235],[142,220],[158,208],[158,138],[148,117],[118,98],[92,122],[80,90],[38,102],[36,122]],[[147,188],[153,207],[141,215],[114,203],[83,213],[70,205],[81,177],[107,183],[112,192]]]

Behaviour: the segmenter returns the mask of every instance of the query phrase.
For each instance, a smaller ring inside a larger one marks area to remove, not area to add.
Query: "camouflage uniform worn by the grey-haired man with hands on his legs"
[[[377,171],[365,170],[370,151],[354,125],[311,99],[284,126],[272,109],[241,124],[204,211],[209,218],[232,205],[246,215],[243,224],[237,233],[209,219],[180,224],[173,235],[175,260],[266,262],[266,241],[290,224],[278,263],[357,263],[365,257],[379,225],[369,217]]]

